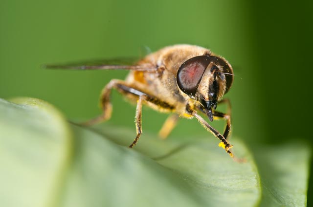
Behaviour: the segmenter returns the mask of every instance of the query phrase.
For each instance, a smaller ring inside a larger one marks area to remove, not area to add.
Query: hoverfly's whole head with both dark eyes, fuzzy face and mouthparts
[[[231,65],[218,56],[192,57],[179,67],[177,73],[179,89],[199,101],[210,121],[213,121],[212,109],[216,109],[232,82]]]

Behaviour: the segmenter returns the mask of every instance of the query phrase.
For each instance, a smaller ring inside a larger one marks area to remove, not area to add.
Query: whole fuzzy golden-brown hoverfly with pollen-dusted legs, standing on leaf
[[[46,68],[72,70],[130,70],[125,80],[112,79],[102,90],[100,105],[103,113],[86,122],[95,124],[110,119],[112,105],[111,90],[115,89],[128,99],[136,101],[135,126],[137,135],[129,146],[137,143],[141,129],[141,108],[145,104],[152,109],[171,113],[159,135],[165,138],[176,126],[179,117],[196,118],[201,125],[220,139],[219,146],[234,157],[227,137],[231,130],[230,104],[222,99],[233,82],[233,69],[221,56],[195,45],[173,45],[145,56],[134,65],[118,64],[68,64],[47,65]],[[216,111],[218,103],[228,103],[228,112]],[[210,121],[226,120],[224,133],[214,129],[199,113]]]

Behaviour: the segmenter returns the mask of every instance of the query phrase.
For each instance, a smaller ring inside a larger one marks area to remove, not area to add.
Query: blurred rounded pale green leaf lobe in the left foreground
[[[61,113],[32,98],[0,99],[0,206],[53,206],[71,153]]]

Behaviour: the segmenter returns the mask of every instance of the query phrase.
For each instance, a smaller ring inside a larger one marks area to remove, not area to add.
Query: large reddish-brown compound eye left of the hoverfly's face
[[[195,95],[201,77],[209,63],[209,56],[195,56],[182,63],[177,73],[179,89],[185,94]]]

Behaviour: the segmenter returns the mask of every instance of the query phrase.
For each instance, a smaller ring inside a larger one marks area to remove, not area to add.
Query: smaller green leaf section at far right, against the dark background
[[[309,182],[310,149],[304,143],[287,143],[256,149],[261,175],[262,207],[305,207]]]

